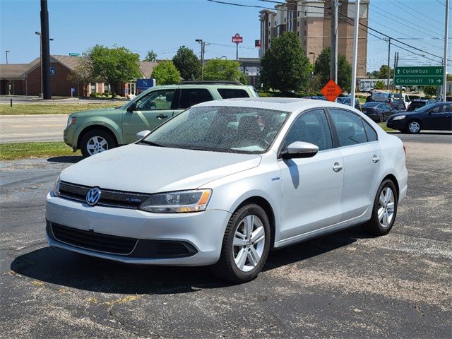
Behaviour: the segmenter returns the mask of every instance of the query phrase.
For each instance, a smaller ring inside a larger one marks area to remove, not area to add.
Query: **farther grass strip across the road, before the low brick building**
[[[124,102],[107,102],[101,104],[13,104],[0,105],[0,115],[18,114],[71,114],[73,112],[86,111],[88,109],[104,109],[118,107]]]

